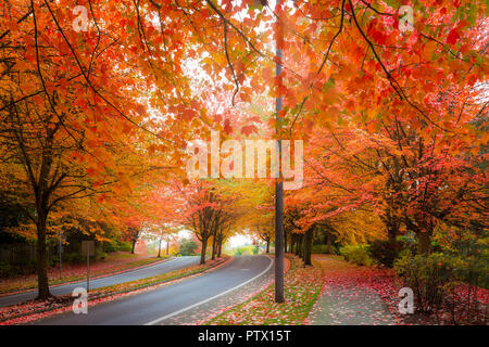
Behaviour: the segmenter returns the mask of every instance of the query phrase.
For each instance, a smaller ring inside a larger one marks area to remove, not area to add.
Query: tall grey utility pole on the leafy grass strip
[[[281,63],[283,63],[283,48],[284,48],[284,31],[281,25],[281,2],[277,0],[275,10],[277,21],[275,23],[275,44],[276,44],[276,60],[275,74],[276,85],[276,104],[275,104],[275,129],[277,136],[278,158],[281,160],[281,108],[283,95],[279,94],[283,82]],[[278,179],[275,180],[275,303],[284,303],[284,182],[281,169],[278,170]]]

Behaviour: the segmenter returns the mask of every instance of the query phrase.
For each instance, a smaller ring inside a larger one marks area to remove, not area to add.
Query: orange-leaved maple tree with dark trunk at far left
[[[49,296],[49,213],[68,200],[129,190],[141,170],[130,151],[140,152],[137,142],[152,132],[138,91],[147,81],[121,73],[138,55],[114,46],[97,22],[98,34],[75,33],[71,9],[70,1],[11,1],[2,9],[3,183],[36,224],[40,298]]]

